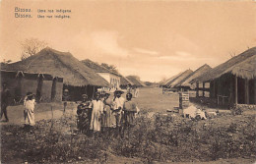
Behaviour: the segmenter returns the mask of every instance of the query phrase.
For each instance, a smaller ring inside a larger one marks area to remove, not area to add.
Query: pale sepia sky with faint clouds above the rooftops
[[[32,18],[15,18],[15,7],[31,9]],[[61,13],[70,19],[37,18],[60,15],[56,9],[71,10]],[[255,11],[255,1],[2,0],[0,60],[19,61],[21,42],[33,37],[79,60],[115,65],[123,76],[159,82],[256,46]]]

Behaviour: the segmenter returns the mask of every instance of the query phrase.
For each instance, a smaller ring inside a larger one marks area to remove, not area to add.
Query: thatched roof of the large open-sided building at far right
[[[203,74],[196,81],[210,82],[220,78],[226,73],[236,75],[240,78],[248,80],[256,78],[255,66],[256,47],[250,48],[243,53],[229,59],[223,64],[215,67],[213,70]]]

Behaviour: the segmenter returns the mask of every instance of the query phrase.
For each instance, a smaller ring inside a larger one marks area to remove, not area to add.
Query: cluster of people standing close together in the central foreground
[[[126,98],[122,94],[121,90],[115,90],[114,95],[96,92],[93,100],[83,94],[83,101],[77,108],[78,129],[87,135],[114,132],[118,136],[133,127],[139,108],[132,100],[132,93],[128,92]]]

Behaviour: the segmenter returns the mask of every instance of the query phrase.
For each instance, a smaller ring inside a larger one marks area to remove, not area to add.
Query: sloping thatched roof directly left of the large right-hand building
[[[196,71],[194,71],[192,74],[190,74],[186,79],[177,83],[175,86],[187,86],[190,88],[194,88],[194,85],[192,85],[191,82],[210,70],[212,70],[212,68],[209,65],[205,64],[198,68]]]

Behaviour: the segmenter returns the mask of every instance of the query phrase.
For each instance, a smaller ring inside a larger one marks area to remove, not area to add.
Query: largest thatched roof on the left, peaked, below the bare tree
[[[50,74],[63,77],[65,84],[74,86],[108,86],[109,83],[85,66],[69,52],[60,52],[44,48],[23,61],[8,65],[6,70],[23,71],[36,74]]]

